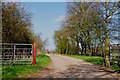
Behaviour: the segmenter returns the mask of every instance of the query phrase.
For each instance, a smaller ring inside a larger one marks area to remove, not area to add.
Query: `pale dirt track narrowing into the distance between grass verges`
[[[103,67],[67,56],[49,54],[50,65],[30,75],[32,78],[117,78],[118,75]]]

